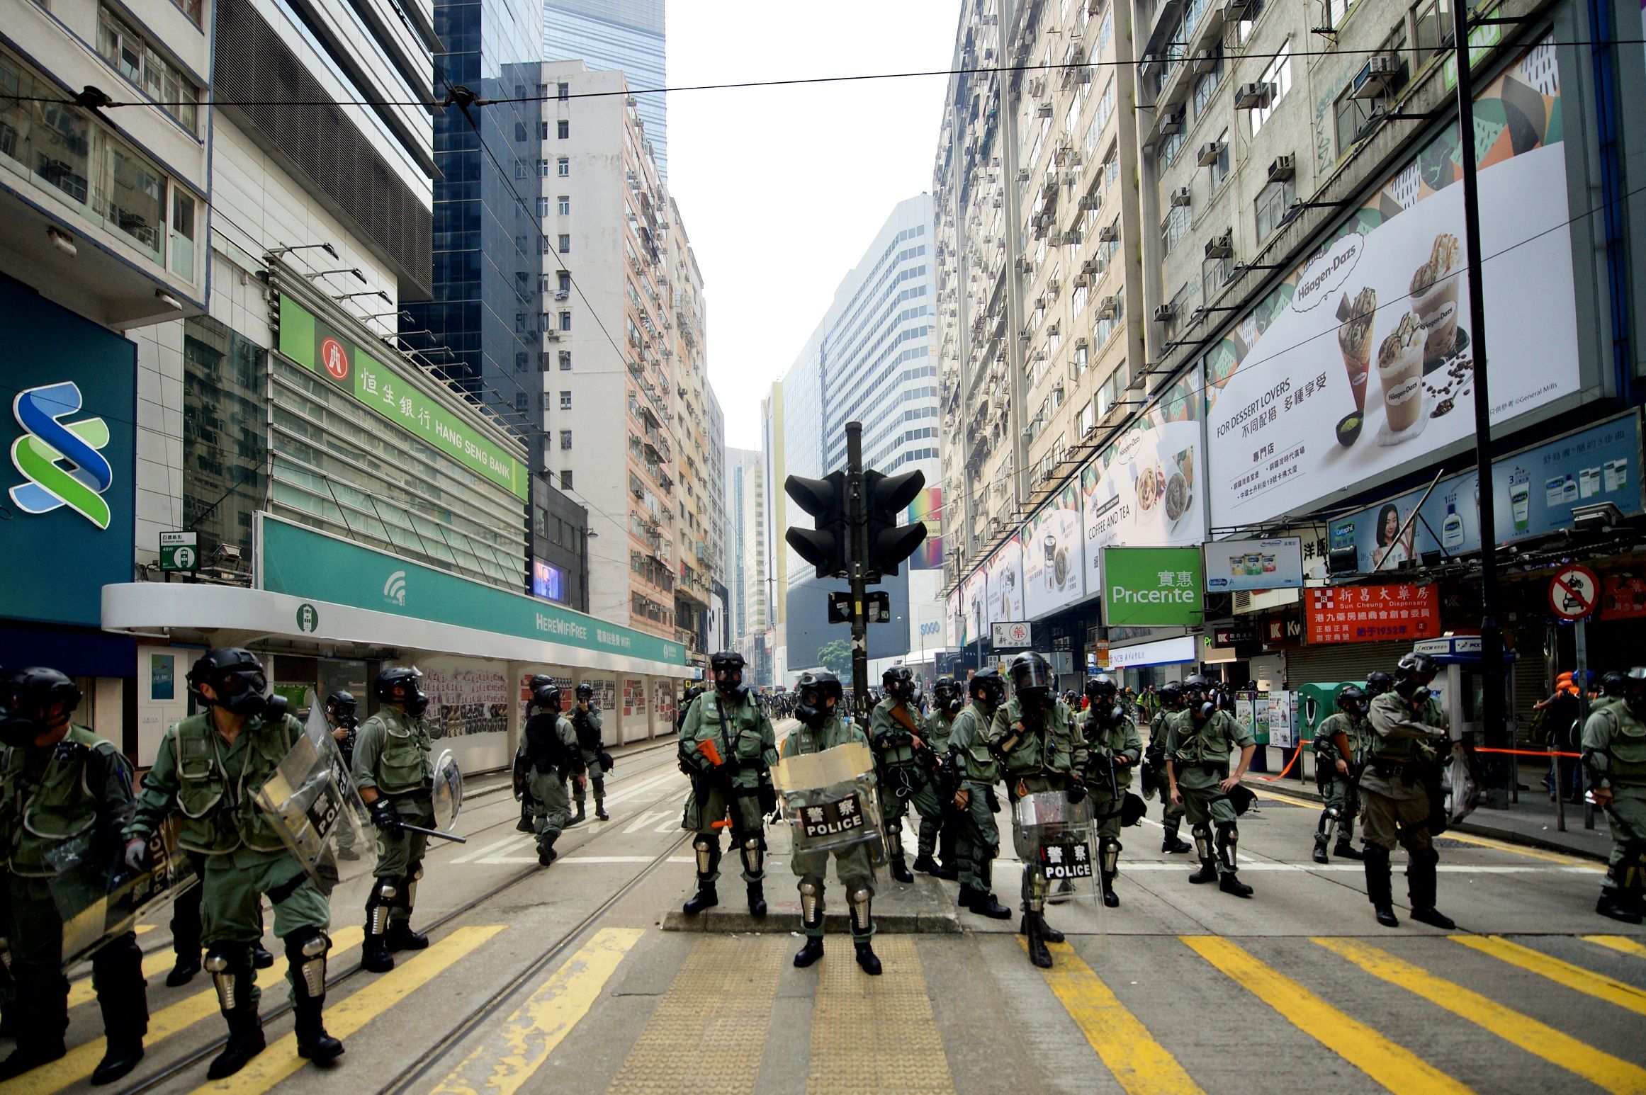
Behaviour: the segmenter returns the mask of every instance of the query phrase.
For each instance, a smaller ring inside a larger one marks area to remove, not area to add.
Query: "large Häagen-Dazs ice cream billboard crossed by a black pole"
[[[1552,44],[1476,99],[1475,145],[1496,424],[1579,386]],[[1460,169],[1452,127],[1207,355],[1213,526],[1307,510],[1473,434]]]

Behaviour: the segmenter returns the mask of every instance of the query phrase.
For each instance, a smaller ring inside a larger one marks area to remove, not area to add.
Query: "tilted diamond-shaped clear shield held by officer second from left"
[[[370,868],[370,811],[324,718],[316,723],[309,717],[303,737],[258,789],[257,804],[323,891]]]

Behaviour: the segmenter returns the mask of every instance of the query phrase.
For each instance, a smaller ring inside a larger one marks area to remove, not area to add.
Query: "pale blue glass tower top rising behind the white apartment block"
[[[543,0],[543,59],[617,69],[635,89],[644,140],[668,181],[665,0]],[[650,92],[650,94],[645,94]]]

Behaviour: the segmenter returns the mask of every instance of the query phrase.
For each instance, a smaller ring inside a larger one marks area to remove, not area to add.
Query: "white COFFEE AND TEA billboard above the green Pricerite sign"
[[[1137,423],[1080,472],[1085,589],[1103,589],[1103,549],[1200,544],[1200,396],[1177,380]]]

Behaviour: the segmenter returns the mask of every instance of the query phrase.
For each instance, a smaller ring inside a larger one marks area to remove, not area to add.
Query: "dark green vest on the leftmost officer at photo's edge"
[[[72,863],[53,865],[46,853],[69,842],[89,843],[102,806],[107,766],[125,760],[112,742],[86,727],[69,727],[67,737],[51,746],[40,781],[23,786],[28,750],[5,751],[0,769],[0,842],[7,866],[25,878],[49,878]],[[125,806],[123,802],[110,806]],[[81,857],[84,860],[84,853]]]

